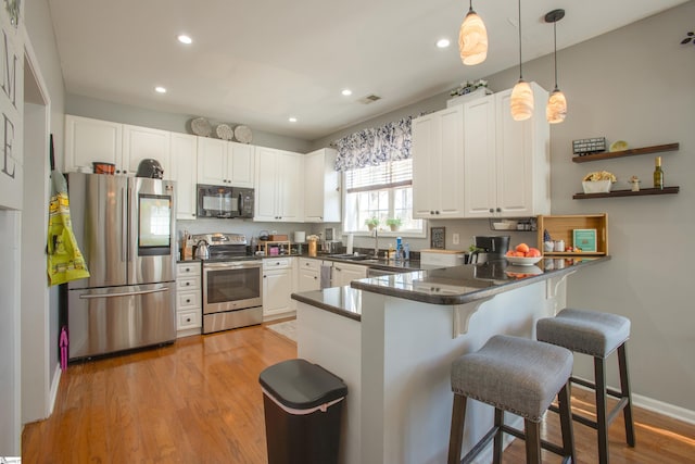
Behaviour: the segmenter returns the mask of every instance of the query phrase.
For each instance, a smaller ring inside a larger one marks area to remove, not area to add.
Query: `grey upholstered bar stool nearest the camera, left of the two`
[[[475,353],[452,364],[454,405],[448,441],[448,464],[470,462],[494,438],[493,462],[502,460],[503,435],[526,440],[527,463],[541,463],[541,448],[574,462],[574,439],[569,404],[572,353],[560,347],[497,335]],[[563,447],[541,440],[541,418],[558,397]],[[467,399],[495,407],[494,426],[460,459]],[[525,430],[504,424],[504,412],[523,417]]]

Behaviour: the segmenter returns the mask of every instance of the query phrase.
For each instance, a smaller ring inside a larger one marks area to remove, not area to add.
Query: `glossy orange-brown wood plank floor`
[[[266,463],[261,372],[296,358],[263,327],[179,339],[173,346],[71,365],[53,415],[25,427],[24,463]],[[573,405],[592,410],[574,389]],[[586,400],[589,399],[589,402]],[[546,436],[558,440],[555,414]],[[637,447],[610,428],[611,463],[695,462],[695,426],[636,409]],[[578,462],[595,463],[595,431],[574,425]],[[504,454],[523,462],[523,442]],[[544,454],[544,462],[559,462]]]

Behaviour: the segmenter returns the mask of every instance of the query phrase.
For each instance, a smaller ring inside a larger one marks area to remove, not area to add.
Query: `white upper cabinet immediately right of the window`
[[[414,216],[463,217],[463,105],[415,118],[412,127]]]

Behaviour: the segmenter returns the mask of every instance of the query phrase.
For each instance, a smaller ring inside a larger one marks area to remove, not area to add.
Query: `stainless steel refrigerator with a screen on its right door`
[[[91,274],[67,284],[70,359],[175,340],[174,183],[78,173],[67,181]]]

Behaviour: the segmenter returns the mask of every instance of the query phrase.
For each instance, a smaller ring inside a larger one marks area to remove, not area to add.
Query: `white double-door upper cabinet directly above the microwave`
[[[253,188],[254,155],[254,146],[199,137],[198,183]]]

